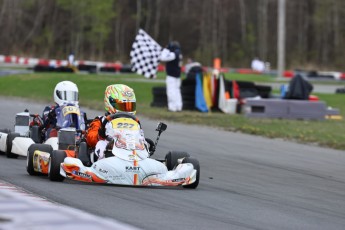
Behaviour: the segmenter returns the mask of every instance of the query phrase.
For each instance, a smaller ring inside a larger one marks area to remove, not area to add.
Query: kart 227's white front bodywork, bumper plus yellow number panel
[[[196,170],[190,163],[168,171],[165,164],[149,158],[139,124],[129,118],[115,119],[106,125],[113,138],[112,156],[85,167],[77,158],[67,157],[60,174],[70,179],[141,186],[178,186],[194,183]]]

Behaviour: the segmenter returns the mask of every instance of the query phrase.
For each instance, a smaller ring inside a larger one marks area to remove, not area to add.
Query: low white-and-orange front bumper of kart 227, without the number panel
[[[163,163],[151,158],[135,162],[113,156],[86,167],[78,158],[66,157],[60,174],[83,182],[132,186],[180,186],[196,180],[197,171],[190,163],[179,164],[168,171]]]

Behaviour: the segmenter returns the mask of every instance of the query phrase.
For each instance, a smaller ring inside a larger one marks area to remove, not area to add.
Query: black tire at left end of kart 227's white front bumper
[[[54,150],[50,154],[48,177],[51,181],[62,182],[65,179],[65,177],[60,175],[60,166],[66,156],[63,150]]]

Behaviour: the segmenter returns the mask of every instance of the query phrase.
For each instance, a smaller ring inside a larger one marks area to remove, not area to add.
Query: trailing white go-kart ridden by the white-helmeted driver
[[[74,132],[78,129],[85,130],[86,114],[80,112],[78,105],[62,105],[55,112],[57,119],[56,129],[59,130],[59,134],[71,132],[70,127],[74,128]],[[54,149],[59,149],[59,146],[63,145],[65,140],[62,139],[60,141],[59,135],[45,138],[45,132],[42,118],[39,115],[30,114],[28,111],[18,113],[15,131],[0,133],[0,151],[5,152],[9,158],[17,158],[18,156],[27,156],[28,150],[32,145],[38,147],[44,143],[45,147],[43,149],[49,149],[50,152]]]

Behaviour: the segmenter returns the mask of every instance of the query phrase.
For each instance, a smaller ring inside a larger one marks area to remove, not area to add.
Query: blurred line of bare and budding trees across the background
[[[139,28],[204,65],[277,65],[278,0],[0,0],[0,54],[122,61]],[[286,67],[344,70],[345,1],[286,0]]]

